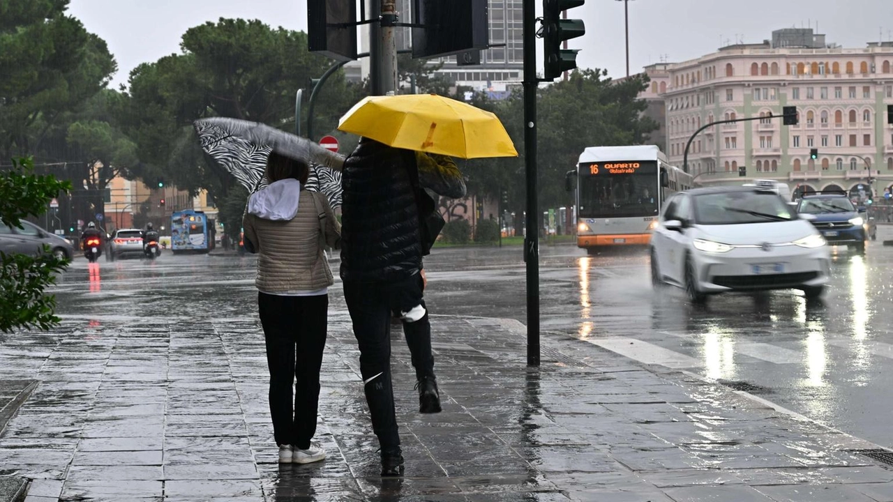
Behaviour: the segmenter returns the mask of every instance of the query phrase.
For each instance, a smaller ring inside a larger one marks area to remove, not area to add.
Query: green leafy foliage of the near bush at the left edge
[[[50,199],[71,189],[66,181],[33,173],[31,159],[20,159],[0,176],[0,224],[21,228],[21,219],[46,211]],[[59,322],[55,297],[44,290],[68,266],[45,249],[43,255],[0,253],[0,331],[39,327],[48,330]]]

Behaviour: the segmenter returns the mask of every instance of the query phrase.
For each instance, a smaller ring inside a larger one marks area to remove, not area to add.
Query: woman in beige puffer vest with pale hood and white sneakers
[[[309,172],[306,163],[272,153],[270,185],[248,199],[242,222],[246,248],[258,255],[255,284],[270,368],[270,413],[283,464],[325,458],[311,439],[333,283],[325,246],[338,246],[341,226],[326,197],[304,188]]]

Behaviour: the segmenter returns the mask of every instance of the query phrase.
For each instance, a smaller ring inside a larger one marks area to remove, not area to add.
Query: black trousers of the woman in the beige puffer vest
[[[257,304],[270,368],[273,436],[276,444],[310,448],[310,439],[316,433],[329,296],[280,297],[259,293]]]

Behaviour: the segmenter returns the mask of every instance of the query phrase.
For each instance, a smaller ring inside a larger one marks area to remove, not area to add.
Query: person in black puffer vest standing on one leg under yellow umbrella
[[[372,429],[381,446],[382,475],[404,471],[390,375],[392,312],[411,326],[406,342],[416,368],[420,411],[440,411],[422,300],[417,155],[425,154],[361,138],[342,168],[341,279],[360,347]],[[461,191],[464,195],[464,185]]]

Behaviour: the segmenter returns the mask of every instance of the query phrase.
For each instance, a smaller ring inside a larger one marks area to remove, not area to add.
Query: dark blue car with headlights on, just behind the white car
[[[830,246],[847,246],[858,253],[865,252],[865,240],[870,233],[868,214],[860,212],[847,194],[820,193],[803,197],[797,213],[805,214]]]

